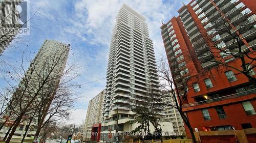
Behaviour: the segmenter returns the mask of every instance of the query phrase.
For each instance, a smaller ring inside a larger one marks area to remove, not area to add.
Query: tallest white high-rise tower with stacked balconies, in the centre
[[[148,36],[145,18],[123,4],[113,28],[109,63],[106,74],[103,130],[130,132],[134,113],[130,100],[146,93],[147,86],[157,87],[158,75],[152,40]],[[102,139],[103,140],[103,139]]]

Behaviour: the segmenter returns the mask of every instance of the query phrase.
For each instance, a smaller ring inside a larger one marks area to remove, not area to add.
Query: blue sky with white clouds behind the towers
[[[185,4],[188,2],[183,1]],[[71,44],[67,66],[75,63],[78,67],[76,82],[81,84],[81,88],[76,90],[76,94],[82,98],[75,102],[71,119],[66,123],[82,124],[89,101],[105,88],[103,78],[106,76],[112,28],[124,3],[146,18],[156,59],[165,56],[161,20],[167,22],[178,16],[177,11],[182,7],[179,0],[30,1],[30,17],[34,15],[30,20],[30,35],[18,35],[0,58],[15,63],[20,60],[20,51],[26,51],[26,59],[33,60],[45,39]],[[0,76],[0,84],[1,88],[6,86],[3,76]]]

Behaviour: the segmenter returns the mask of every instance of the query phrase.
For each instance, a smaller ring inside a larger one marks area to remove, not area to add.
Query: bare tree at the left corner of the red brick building
[[[170,63],[170,66],[168,63]],[[190,122],[186,113],[182,111],[182,106],[186,101],[187,91],[190,90],[187,85],[188,78],[183,78],[179,82],[177,80],[174,80],[177,77],[179,77],[180,74],[184,75],[186,73],[183,73],[181,70],[179,70],[180,68],[175,60],[168,61],[168,63],[166,63],[164,60],[161,60],[160,64],[158,65],[158,72],[159,72],[159,77],[163,82],[161,84],[161,87],[164,90],[162,97],[171,98],[173,102],[166,103],[166,102],[163,102],[162,100],[155,100],[155,101],[157,101],[158,102],[157,104],[159,105],[170,106],[179,111],[184,124],[189,129],[193,143],[196,143],[197,140],[196,140],[193,128],[190,125]],[[178,87],[182,87],[182,89]]]

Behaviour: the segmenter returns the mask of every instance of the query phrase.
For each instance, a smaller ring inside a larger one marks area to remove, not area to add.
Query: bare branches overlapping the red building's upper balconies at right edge
[[[245,75],[249,81],[256,83],[252,76],[256,67],[255,52],[255,15],[245,9],[236,17],[219,9],[208,19],[204,26],[205,33],[194,44],[201,63],[221,65]],[[226,43],[226,44],[225,44]],[[237,60],[236,64],[230,61]]]

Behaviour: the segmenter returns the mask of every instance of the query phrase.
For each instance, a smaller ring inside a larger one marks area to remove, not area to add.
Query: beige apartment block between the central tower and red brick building
[[[164,97],[163,103],[171,104],[174,103],[171,97]],[[173,123],[173,128],[175,133],[179,133],[179,135],[185,135],[185,127],[183,120],[180,116],[180,113],[174,107],[166,106],[164,108],[165,117],[162,119],[164,122]]]

